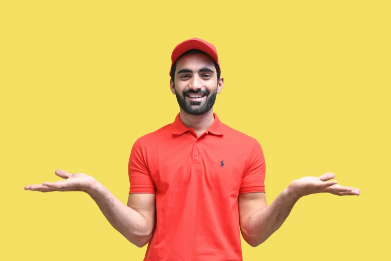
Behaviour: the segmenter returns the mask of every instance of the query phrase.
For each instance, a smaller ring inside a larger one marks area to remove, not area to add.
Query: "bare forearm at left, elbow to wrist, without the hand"
[[[106,187],[97,182],[86,191],[102,211],[110,224],[131,243],[141,247],[152,235],[153,227],[136,210],[123,204]]]

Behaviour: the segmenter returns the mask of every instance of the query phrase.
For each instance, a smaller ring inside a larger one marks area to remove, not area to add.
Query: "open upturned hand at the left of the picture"
[[[88,193],[96,183],[95,178],[84,173],[71,174],[62,169],[57,169],[54,173],[59,177],[65,178],[65,180],[26,185],[24,189],[40,192],[84,191]]]

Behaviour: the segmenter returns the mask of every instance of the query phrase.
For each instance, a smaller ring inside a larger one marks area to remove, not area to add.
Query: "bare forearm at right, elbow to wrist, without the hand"
[[[280,228],[299,198],[289,187],[284,189],[270,205],[251,215],[242,228],[244,239],[252,246],[263,243]]]

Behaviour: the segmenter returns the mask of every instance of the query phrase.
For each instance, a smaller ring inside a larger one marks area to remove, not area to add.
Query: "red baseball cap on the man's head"
[[[219,65],[220,68],[220,62],[219,62],[219,57],[217,56],[216,47],[212,43],[209,43],[203,39],[191,38],[188,40],[184,40],[178,45],[176,45],[174,50],[172,51],[171,67],[170,67],[169,75],[171,75],[172,65],[174,65],[175,61],[179,58],[179,56],[181,56],[183,53],[191,49],[202,50],[203,52],[211,56],[212,59],[216,61],[216,63]]]

